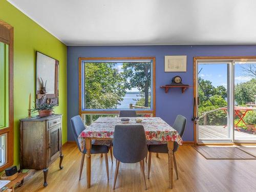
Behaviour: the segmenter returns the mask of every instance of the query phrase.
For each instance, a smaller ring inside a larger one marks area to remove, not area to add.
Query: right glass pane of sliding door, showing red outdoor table
[[[256,62],[234,62],[234,140],[256,141]]]

